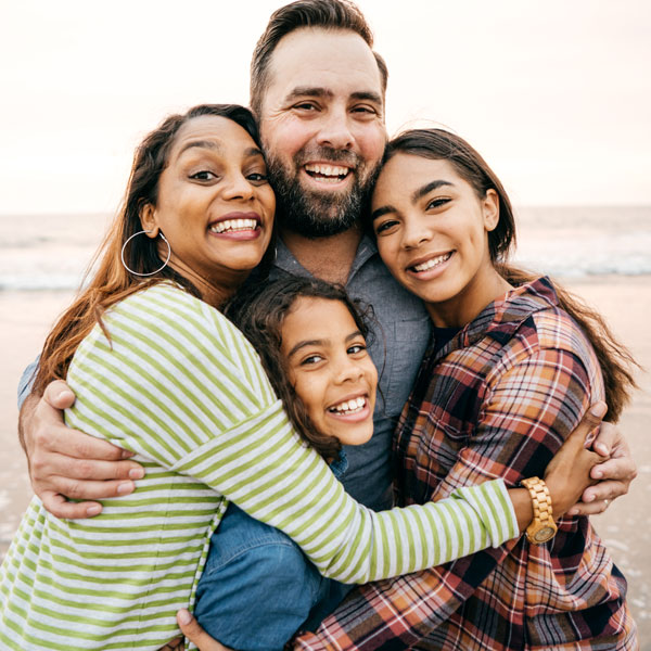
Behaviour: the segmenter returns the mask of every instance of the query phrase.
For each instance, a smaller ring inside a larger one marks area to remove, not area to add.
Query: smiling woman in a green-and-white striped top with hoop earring
[[[373,514],[299,441],[252,346],[216,309],[259,265],[273,208],[245,108],[171,116],[137,151],[124,210],[46,342],[35,390],[66,376],[78,398],[67,423],[119,442],[148,474],[92,521],[58,521],[33,501],[0,573],[7,648],[167,642],[227,500],[350,583],[516,533],[499,482],[443,506]],[[489,503],[496,516],[482,516]],[[476,535],[456,540],[457,529]],[[446,535],[456,544],[439,546]]]

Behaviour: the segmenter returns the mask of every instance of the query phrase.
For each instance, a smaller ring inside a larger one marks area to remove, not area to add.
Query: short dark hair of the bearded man
[[[280,40],[302,27],[344,29],[361,36],[373,50],[373,33],[361,11],[348,0],[297,0],[276,10],[263,36],[260,36],[251,60],[251,107],[261,115],[263,94],[269,82],[269,62]],[[380,77],[382,94],[386,92],[388,71],[380,54],[373,52]]]

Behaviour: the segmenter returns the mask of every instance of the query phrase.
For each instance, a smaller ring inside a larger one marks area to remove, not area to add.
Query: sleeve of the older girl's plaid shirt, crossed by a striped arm
[[[486,478],[501,476],[514,486],[541,474],[589,406],[586,368],[562,349],[529,352],[510,368],[496,369],[485,390],[476,429],[433,499]],[[443,436],[436,431],[433,435]],[[456,648],[449,646],[444,625],[475,591],[481,599],[477,587],[516,546],[522,542],[510,540],[446,565],[361,586],[315,634],[297,638],[295,648],[405,649],[434,630],[436,648]],[[499,593],[509,609],[513,590],[508,577],[496,574],[487,591]],[[464,620],[463,625],[472,623]],[[496,639],[489,648],[511,647]]]

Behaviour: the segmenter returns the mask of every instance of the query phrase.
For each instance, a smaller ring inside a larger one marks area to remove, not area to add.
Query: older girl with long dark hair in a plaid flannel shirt
[[[516,486],[541,472],[590,401],[605,395],[620,416],[633,360],[598,315],[506,266],[511,205],[465,141],[439,129],[393,140],[371,217],[382,259],[434,324],[397,429],[403,503],[488,477]],[[636,649],[626,582],[588,519],[554,529],[536,518],[499,549],[365,586],[301,647]]]

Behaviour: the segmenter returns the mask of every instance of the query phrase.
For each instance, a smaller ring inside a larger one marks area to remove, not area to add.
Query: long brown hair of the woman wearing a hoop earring
[[[260,145],[253,114],[237,104],[201,104],[182,115],[170,115],[144,138],[133,156],[123,206],[93,258],[97,270],[46,340],[34,383],[37,395],[41,395],[52,380],[65,379],[77,346],[95,323],[102,326],[102,315],[112,305],[163,280],[173,280],[199,297],[197,289],[169,266],[149,278],[129,273],[122,264],[120,253],[125,242],[143,230],[140,222],[142,208],[148,204],[156,205],[158,181],[167,166],[176,135],[186,123],[203,115],[233,120]],[[125,252],[127,266],[139,273],[149,273],[161,267],[163,260],[157,242],[157,238],[133,238]]]

